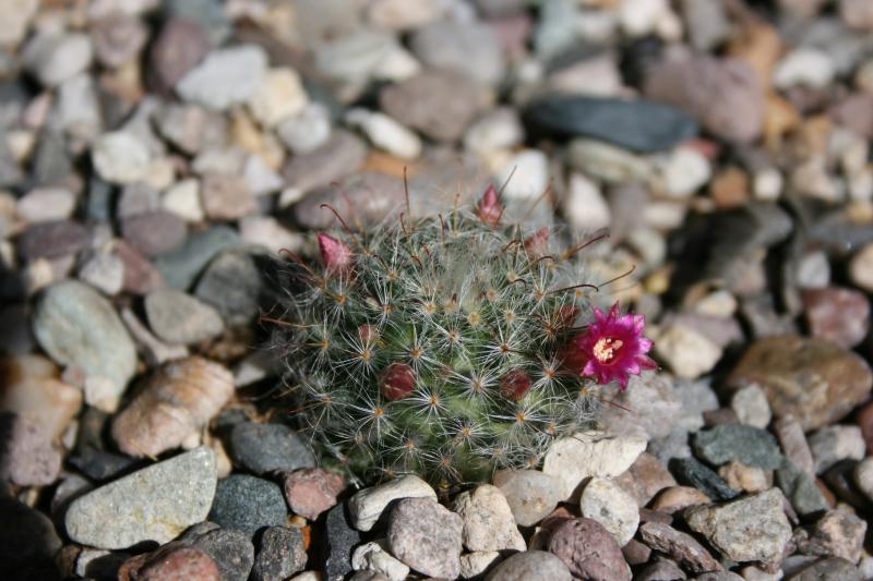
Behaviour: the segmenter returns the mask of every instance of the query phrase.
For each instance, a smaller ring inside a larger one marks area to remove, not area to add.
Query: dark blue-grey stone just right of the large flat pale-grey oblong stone
[[[288,508],[282,489],[273,482],[231,474],[218,481],[210,520],[223,529],[242,531],[250,537],[264,526],[283,526]]]

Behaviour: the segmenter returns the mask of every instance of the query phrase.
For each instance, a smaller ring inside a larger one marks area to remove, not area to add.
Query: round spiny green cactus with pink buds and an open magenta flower
[[[642,317],[594,310],[596,287],[575,278],[587,244],[559,252],[502,214],[491,186],[473,208],[368,232],[339,218],[342,235],[318,235],[321,266],[287,253],[276,346],[323,461],[441,485],[533,468],[595,419],[586,376],[624,387],[651,366]],[[577,326],[594,315],[621,340]]]

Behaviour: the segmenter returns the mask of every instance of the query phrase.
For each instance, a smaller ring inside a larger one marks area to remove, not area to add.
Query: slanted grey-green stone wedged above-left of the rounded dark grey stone
[[[216,254],[239,245],[239,234],[227,226],[193,232],[175,251],[159,256],[155,266],[167,286],[186,290]]]

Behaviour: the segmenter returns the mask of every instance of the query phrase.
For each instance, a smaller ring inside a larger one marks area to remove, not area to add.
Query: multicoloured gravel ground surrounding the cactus
[[[873,579],[870,0],[0,13],[3,579]],[[451,497],[318,468],[261,349],[271,255],[404,168],[608,229],[661,365]]]

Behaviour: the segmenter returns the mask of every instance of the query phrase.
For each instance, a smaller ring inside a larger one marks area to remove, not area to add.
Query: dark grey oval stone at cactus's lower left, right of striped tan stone
[[[239,423],[230,431],[229,445],[234,462],[258,475],[315,465],[309,445],[283,424]]]

